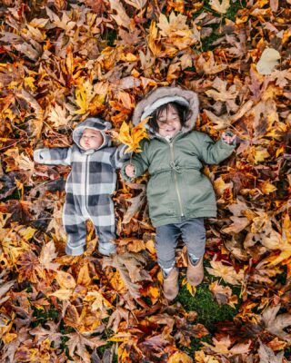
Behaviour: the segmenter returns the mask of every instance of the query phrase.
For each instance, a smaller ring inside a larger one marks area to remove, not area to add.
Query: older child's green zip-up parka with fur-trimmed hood
[[[162,91],[162,94],[158,91]],[[170,142],[150,132],[151,139],[142,143],[143,152],[133,155],[131,163],[135,165],[135,177],[141,176],[146,170],[150,175],[146,188],[150,219],[157,227],[178,223],[183,216],[216,217],[215,191],[206,175],[201,173],[202,162],[222,162],[233,152],[235,145],[222,140],[214,142],[204,132],[190,131],[198,112],[196,93],[180,88],[158,88],[143,104],[147,101],[147,109],[152,108],[153,104],[160,105],[163,97],[167,100],[172,97],[172,102],[185,97],[192,110],[192,117]],[[141,119],[144,110],[145,107],[135,109],[135,124]],[[130,180],[125,174],[128,163],[122,168],[122,175],[127,181]]]

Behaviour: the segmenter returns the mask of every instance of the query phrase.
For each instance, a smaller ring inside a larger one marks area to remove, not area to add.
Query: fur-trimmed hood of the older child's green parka
[[[197,115],[199,113],[199,100],[197,93],[186,91],[179,87],[159,87],[149,93],[146,98],[137,103],[133,115],[133,123],[137,125],[147,116],[165,103],[180,103],[191,111],[190,117],[182,129],[182,132],[192,130],[196,124]]]

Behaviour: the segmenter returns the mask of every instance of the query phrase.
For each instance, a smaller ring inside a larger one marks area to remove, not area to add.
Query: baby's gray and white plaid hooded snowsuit
[[[83,150],[80,139],[84,130],[102,133],[104,142],[97,150]],[[98,118],[88,118],[75,127],[69,148],[44,148],[34,152],[35,162],[54,165],[70,165],[65,191],[63,223],[67,233],[65,252],[80,255],[85,248],[85,221],[91,220],[99,236],[98,250],[104,255],[115,252],[115,213],[111,194],[115,191],[116,172],[127,159],[124,146],[111,147],[105,130],[111,123]]]

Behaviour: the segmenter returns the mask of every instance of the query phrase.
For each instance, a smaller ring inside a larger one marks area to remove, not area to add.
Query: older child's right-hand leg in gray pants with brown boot
[[[203,255],[206,250],[204,218],[189,219],[180,226],[188,253],[187,280],[190,285],[197,286],[204,278]]]

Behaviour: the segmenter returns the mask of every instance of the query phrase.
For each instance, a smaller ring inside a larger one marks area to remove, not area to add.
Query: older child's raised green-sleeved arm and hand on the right
[[[222,138],[214,142],[206,133],[202,133],[201,159],[207,164],[224,161],[236,148],[236,135],[224,132]]]

